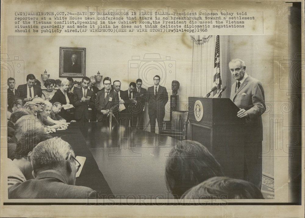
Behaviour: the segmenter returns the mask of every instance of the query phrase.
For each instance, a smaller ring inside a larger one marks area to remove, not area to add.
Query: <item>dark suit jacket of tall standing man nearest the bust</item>
[[[157,95],[155,96],[154,86],[147,89],[148,114],[157,113],[159,116],[165,115],[165,104],[168,101],[168,93],[165,87],[159,86]]]

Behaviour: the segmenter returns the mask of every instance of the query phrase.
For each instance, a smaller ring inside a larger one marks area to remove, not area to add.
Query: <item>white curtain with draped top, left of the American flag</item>
[[[189,96],[204,97],[213,88],[216,36],[191,36],[192,79]],[[211,94],[210,97],[213,97]]]

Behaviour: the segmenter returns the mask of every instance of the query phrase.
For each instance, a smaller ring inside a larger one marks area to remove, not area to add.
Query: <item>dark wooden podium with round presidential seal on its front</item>
[[[224,175],[243,179],[244,118],[229,98],[188,98],[188,139],[200,142],[221,164]]]

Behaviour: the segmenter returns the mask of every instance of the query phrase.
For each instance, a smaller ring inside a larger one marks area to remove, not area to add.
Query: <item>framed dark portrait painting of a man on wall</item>
[[[86,48],[59,47],[59,77],[86,75]]]

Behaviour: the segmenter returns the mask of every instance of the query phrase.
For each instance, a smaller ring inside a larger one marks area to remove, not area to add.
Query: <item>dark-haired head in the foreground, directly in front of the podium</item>
[[[167,189],[175,198],[195,185],[215,176],[223,176],[220,164],[199,142],[185,140],[173,147],[167,159]]]

